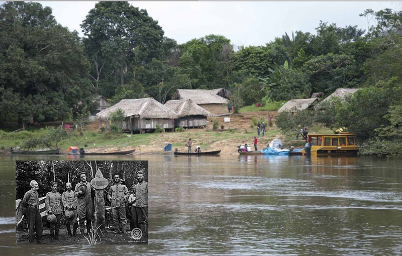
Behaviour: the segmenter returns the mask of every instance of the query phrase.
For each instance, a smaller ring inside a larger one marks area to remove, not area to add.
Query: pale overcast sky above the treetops
[[[96,2],[39,2],[53,9],[63,27],[76,30]],[[165,36],[183,44],[205,35],[223,35],[236,46],[260,46],[292,31],[316,33],[320,20],[338,27],[368,27],[366,9],[402,10],[402,2],[129,2],[146,9]],[[374,21],[370,21],[370,25]]]

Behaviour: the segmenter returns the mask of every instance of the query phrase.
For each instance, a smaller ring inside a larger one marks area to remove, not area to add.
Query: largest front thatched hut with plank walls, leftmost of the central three
[[[116,111],[118,108],[123,109],[125,113],[126,118],[122,125],[122,129],[125,132],[154,130],[157,124],[161,128],[173,130],[174,119],[177,118],[175,112],[153,98],[123,99],[119,103],[96,114],[100,127],[102,127],[103,121],[107,121],[106,125],[108,127],[110,113]]]

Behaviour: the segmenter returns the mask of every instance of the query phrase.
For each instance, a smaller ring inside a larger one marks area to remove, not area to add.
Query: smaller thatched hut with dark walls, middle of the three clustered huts
[[[178,118],[174,123],[176,127],[207,126],[207,117],[212,116],[209,111],[198,106],[191,99],[169,100],[165,106],[177,114]]]

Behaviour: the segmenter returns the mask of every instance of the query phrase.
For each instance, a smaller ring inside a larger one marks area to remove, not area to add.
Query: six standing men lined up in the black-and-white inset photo
[[[70,182],[66,183],[66,191],[60,194],[57,192],[57,183],[52,184],[52,191],[46,194],[45,207],[50,223],[51,240],[59,239],[60,218],[64,213],[66,215],[66,228],[68,236],[77,235],[78,219],[80,235],[84,236],[85,221],[87,233],[91,232],[93,198],[95,190],[92,185],[86,181],[85,172],[80,174],[80,182],[75,185],[74,191]],[[115,233],[127,230],[126,204],[131,208],[132,226],[141,229],[147,237],[148,226],[148,183],[144,181],[144,173],[137,172],[136,185],[130,187],[131,194],[127,187],[121,183],[119,175],[115,175],[113,180],[115,185],[109,189],[108,199],[111,202],[113,222],[116,226]],[[29,241],[35,240],[34,232],[36,230],[36,241],[42,243],[43,223],[39,210],[38,182],[30,182],[31,189],[27,191],[22,200],[22,205],[27,208],[26,219],[29,229]],[[67,211],[72,211],[73,214]],[[69,216],[69,218],[67,218]],[[73,232],[71,233],[71,223]],[[120,226],[122,229],[120,229]],[[130,227],[132,228],[132,227]],[[130,229],[131,230],[131,229]]]

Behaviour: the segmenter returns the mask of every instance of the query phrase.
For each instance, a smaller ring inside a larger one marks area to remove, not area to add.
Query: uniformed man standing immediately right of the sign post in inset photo
[[[130,196],[130,192],[126,185],[120,183],[120,176],[113,176],[115,185],[109,189],[108,199],[112,205],[113,222],[116,226],[114,233],[120,233],[119,225],[122,225],[123,233],[127,231],[127,218],[126,218],[126,201]]]

